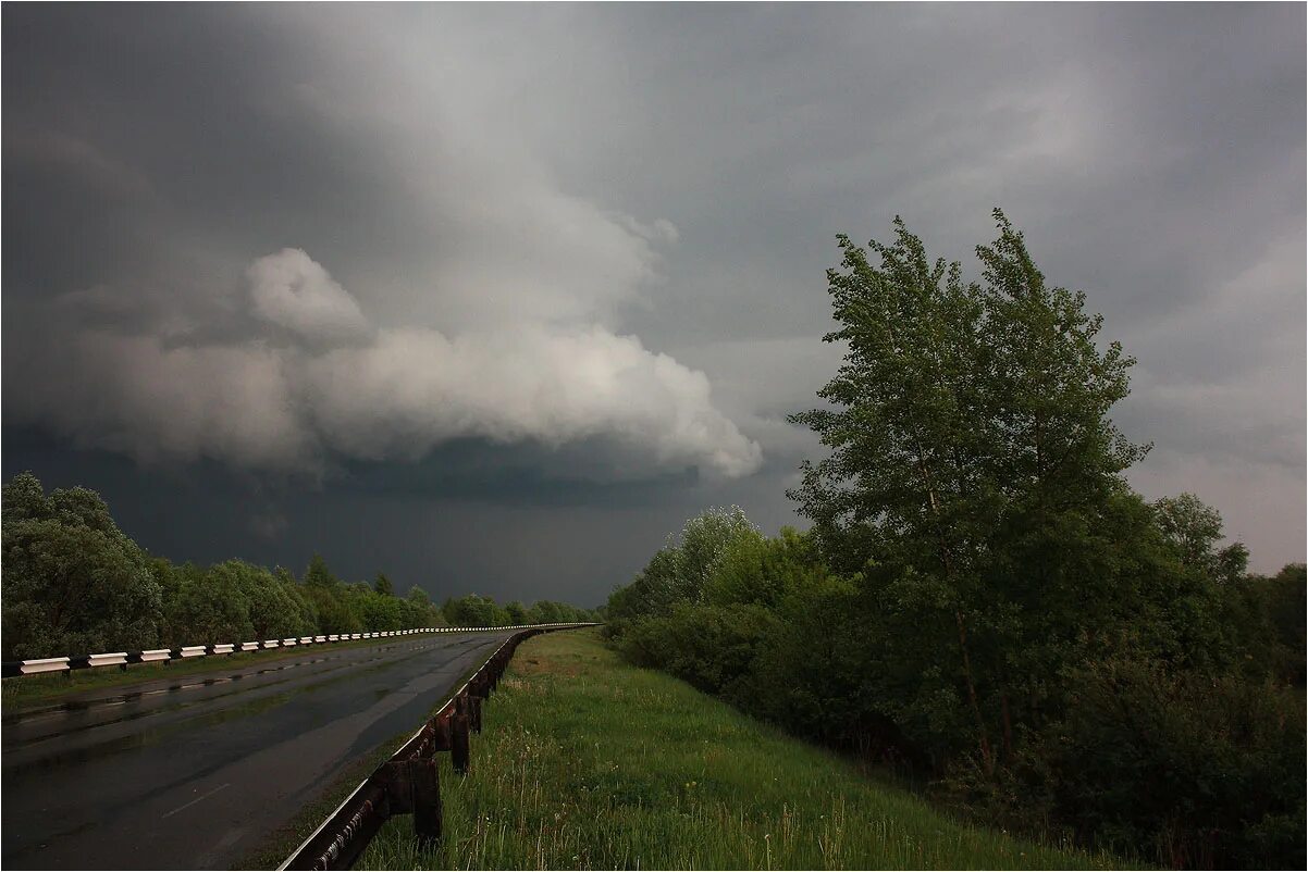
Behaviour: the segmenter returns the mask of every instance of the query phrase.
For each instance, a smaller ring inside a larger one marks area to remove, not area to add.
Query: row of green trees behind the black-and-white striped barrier
[[[385,573],[347,583],[317,554],[298,579],[239,560],[175,565],[123,533],[95,492],[47,494],[30,472],[4,485],[3,549],[5,660],[593,614],[548,601],[498,607],[475,595],[437,608],[421,587],[398,594]]]

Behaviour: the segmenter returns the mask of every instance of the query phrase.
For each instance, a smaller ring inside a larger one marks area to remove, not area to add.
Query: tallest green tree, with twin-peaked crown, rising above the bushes
[[[988,770],[995,737],[1011,746],[1012,685],[1039,684],[1035,664],[1012,663],[1050,631],[1029,609],[1057,604],[1067,641],[1074,588],[1110,562],[1095,524],[1121,510],[1120,473],[1146,450],[1107,417],[1131,358],[1099,350],[1084,295],[1048,286],[1022,234],[995,221],[999,238],[977,248],[984,285],[929,258],[900,218],[892,244],[840,237],[828,272],[840,329],[825,340],[845,344],[845,361],[819,392],[828,405],[791,416],[831,448],[791,497],[828,560],[863,571],[889,635],[910,639],[878,655],[887,675],[939,675],[893,714],[939,728],[956,698]],[[934,663],[914,663],[927,651]]]

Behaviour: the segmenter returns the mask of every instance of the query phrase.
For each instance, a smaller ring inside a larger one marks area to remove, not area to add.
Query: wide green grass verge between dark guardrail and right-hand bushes
[[[445,838],[391,820],[358,868],[1116,868],[946,817],[675,679],[594,630],[523,643],[472,771],[441,754]]]

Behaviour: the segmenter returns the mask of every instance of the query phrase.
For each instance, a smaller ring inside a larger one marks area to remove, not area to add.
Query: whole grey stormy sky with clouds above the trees
[[[3,12],[3,465],[153,552],[603,600],[799,523],[835,237],[1002,207],[1138,358],[1150,498],[1304,560],[1305,9]],[[974,272],[974,269],[973,269]]]

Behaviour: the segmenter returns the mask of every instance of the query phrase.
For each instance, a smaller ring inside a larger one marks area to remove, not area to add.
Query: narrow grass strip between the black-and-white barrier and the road
[[[43,672],[20,675],[0,680],[0,701],[4,705],[27,705],[48,702],[69,697],[84,690],[120,688],[160,679],[179,679],[182,676],[228,672],[251,664],[289,660],[307,654],[327,654],[343,648],[361,648],[374,645],[396,645],[413,639],[428,638],[426,634],[402,635],[383,639],[353,639],[349,642],[318,642],[297,645],[289,648],[267,648],[263,651],[242,651],[238,654],[209,655],[162,663],[133,663],[123,672],[118,667],[98,667],[95,669],[72,669],[69,672]]]

